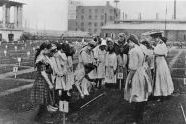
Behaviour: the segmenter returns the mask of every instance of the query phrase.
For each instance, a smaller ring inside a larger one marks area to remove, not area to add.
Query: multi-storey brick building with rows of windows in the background
[[[90,34],[101,33],[101,27],[120,18],[120,10],[112,7],[107,1],[105,6],[77,6],[75,31]],[[72,25],[71,25],[72,26]]]

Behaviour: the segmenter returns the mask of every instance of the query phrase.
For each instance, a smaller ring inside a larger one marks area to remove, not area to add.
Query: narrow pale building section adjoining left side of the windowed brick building
[[[68,30],[75,31],[76,29],[76,8],[80,6],[81,2],[79,1],[68,1]]]

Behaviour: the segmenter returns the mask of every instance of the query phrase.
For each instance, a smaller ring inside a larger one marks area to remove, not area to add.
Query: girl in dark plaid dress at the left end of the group
[[[53,89],[51,81],[52,69],[49,62],[52,45],[49,43],[41,44],[35,55],[36,78],[31,89],[31,102],[38,108],[35,120],[38,121],[45,112],[48,105],[53,105],[53,97],[50,89]]]

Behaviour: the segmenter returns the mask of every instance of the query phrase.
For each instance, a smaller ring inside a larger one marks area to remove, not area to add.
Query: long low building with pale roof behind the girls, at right
[[[163,31],[170,41],[186,41],[186,21],[179,20],[125,20],[102,27],[103,37],[117,39],[120,32],[136,34],[139,37],[147,31]]]

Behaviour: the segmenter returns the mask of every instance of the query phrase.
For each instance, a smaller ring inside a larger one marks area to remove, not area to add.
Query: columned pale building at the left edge
[[[13,0],[0,0],[0,7],[2,7],[3,19],[0,20],[0,41],[14,41],[18,40],[23,33],[22,16],[23,3]],[[14,22],[10,22],[10,9],[14,9]]]

